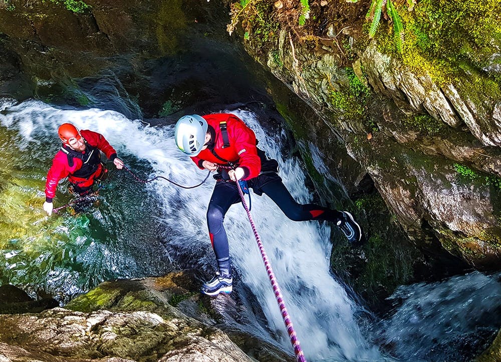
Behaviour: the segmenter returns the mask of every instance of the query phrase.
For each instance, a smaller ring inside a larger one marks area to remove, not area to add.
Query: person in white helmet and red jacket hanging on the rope
[[[245,180],[254,193],[267,194],[294,221],[333,221],[350,242],[360,241],[362,230],[347,211],[327,209],[315,204],[298,204],[278,175],[278,162],[268,159],[257,147],[256,136],[233,114],[181,117],[174,132],[177,147],[191,156],[200,169],[216,171],[217,180],[207,208],[207,226],[218,271],[203,283],[201,292],[217,295],[233,290],[231,262],[224,215],[232,204],[240,202],[236,181]],[[232,170],[218,166],[234,166]]]

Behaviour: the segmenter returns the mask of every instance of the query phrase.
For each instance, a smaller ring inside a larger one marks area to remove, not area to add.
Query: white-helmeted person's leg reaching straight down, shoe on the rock
[[[229,207],[239,200],[236,184],[224,181],[216,183],[207,208],[207,226],[218,272],[211,280],[203,283],[201,292],[204,294],[217,295],[223,292],[230,293],[233,290],[228,238],[223,221]]]

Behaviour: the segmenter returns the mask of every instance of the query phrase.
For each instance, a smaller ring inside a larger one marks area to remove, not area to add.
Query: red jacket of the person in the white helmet
[[[243,180],[257,177],[261,172],[261,159],[256,147],[256,135],[248,128],[241,119],[228,113],[217,113],[202,116],[209,125],[207,131],[211,131],[212,140],[209,147],[201,151],[197,156],[191,157],[193,162],[203,170],[202,162],[209,161],[217,165],[226,165],[228,162],[236,162],[244,171]],[[229,147],[223,148],[223,139],[219,124],[226,121]],[[223,161],[217,156],[226,160]]]

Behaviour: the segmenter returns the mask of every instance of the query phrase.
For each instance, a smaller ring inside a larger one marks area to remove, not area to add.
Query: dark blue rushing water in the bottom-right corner
[[[500,296],[499,273],[401,286],[375,338],[403,360],[471,360],[501,325]]]

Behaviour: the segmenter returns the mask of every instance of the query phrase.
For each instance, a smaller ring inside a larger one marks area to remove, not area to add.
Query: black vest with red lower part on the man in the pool
[[[69,175],[69,181],[79,186],[89,186],[94,182],[94,178],[101,175],[103,166],[101,164],[101,151],[95,146],[91,146],[85,141],[85,153],[72,150],[70,147],[63,145],[61,151],[68,158],[68,165],[73,167],[75,164],[74,158],[82,160],[82,167]]]

